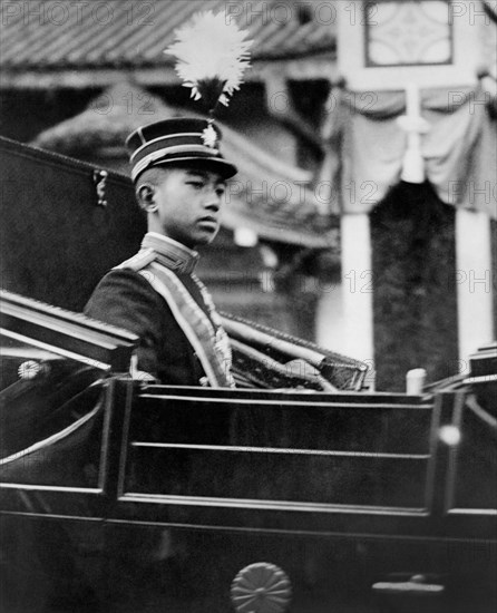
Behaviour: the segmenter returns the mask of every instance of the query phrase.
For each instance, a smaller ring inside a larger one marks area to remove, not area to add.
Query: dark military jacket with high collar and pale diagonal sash
[[[194,273],[197,261],[196,252],[149,232],[134,257],[104,276],[85,313],[137,334],[138,369],[162,383],[233,386],[227,337]],[[167,301],[156,285],[160,279],[169,285]],[[213,382],[209,367],[214,361],[223,373]]]

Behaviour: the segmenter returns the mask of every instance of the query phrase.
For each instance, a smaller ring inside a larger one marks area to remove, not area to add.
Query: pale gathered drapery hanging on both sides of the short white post
[[[421,91],[421,115],[429,123],[421,137],[427,179],[441,201],[493,218],[497,218],[497,130],[490,115],[495,104],[481,86]],[[397,119],[405,113],[401,91],[340,93],[327,136],[331,144],[341,132],[337,165],[341,213],[368,213],[399,183],[407,135]]]

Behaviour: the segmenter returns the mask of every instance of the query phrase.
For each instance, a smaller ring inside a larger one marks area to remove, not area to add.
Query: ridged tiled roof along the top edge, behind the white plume
[[[224,11],[256,42],[253,61],[334,57],[334,25],[308,0],[10,0],[1,3],[0,67],[27,69],[166,67],[175,28],[199,10]],[[321,8],[320,8],[321,6]]]

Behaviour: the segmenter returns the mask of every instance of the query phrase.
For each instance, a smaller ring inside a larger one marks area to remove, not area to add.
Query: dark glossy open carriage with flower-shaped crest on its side
[[[495,610],[496,344],[467,377],[373,392],[355,360],[227,318],[238,388],[143,381],[137,339],[67,302],[58,191],[101,197],[101,171],[0,144],[2,610]],[[105,178],[111,206],[129,186]],[[86,270],[119,249],[108,214],[78,217]]]

